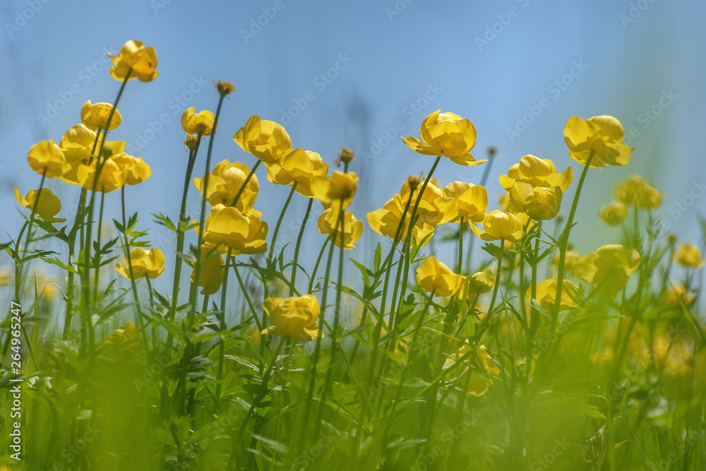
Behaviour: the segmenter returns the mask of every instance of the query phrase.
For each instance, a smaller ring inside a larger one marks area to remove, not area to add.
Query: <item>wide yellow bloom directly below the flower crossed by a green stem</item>
[[[214,246],[226,245],[233,255],[262,254],[267,250],[268,225],[260,216],[254,210],[244,215],[232,206],[215,205],[206,218],[203,240]],[[194,229],[198,232],[198,225]]]

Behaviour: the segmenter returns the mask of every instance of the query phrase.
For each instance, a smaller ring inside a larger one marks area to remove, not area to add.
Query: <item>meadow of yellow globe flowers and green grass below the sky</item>
[[[501,169],[472,120],[432,112],[402,137],[429,171],[391,175],[400,192],[354,215],[354,150],[319,155],[258,116],[219,129],[235,90],[219,81],[213,111],[181,117],[180,207],[151,213],[131,198],[149,162],[119,126],[137,119],[121,97],[160,80],[157,52],[131,40],[111,59],[114,102],[68,105],[80,122],[32,145],[36,189],[15,188],[1,470],[706,469],[706,238],[669,233],[662,192],[638,175],[613,203],[581,198],[598,169],[640,159],[616,117],[568,117],[561,160]],[[438,181],[440,166],[481,184]],[[505,191],[489,195],[490,179]],[[278,215],[257,202],[275,186]],[[282,247],[294,198],[306,213]],[[572,234],[602,230],[579,205],[621,237],[574,251]],[[154,246],[146,221],[177,250]],[[300,251],[307,225],[315,254]],[[369,231],[374,256],[359,258]],[[153,289],[166,267],[171,290]]]

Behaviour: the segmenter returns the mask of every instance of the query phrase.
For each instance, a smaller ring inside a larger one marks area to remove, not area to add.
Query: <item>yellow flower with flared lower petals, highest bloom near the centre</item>
[[[429,114],[421,123],[419,139],[409,136],[402,141],[410,149],[424,155],[449,157],[459,165],[478,165],[486,160],[475,160],[469,154],[476,145],[476,128],[471,121],[457,114],[440,113],[441,109]]]

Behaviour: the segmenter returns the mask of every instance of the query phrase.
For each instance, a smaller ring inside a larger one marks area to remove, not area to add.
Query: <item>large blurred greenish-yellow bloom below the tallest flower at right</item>
[[[601,292],[614,296],[628,284],[638,266],[640,254],[633,247],[610,244],[582,256],[574,271],[592,285],[599,285]]]

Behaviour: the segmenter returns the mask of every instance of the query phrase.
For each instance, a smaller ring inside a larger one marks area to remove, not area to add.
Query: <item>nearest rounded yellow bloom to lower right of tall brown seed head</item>
[[[258,116],[250,117],[245,126],[235,133],[233,141],[265,165],[276,164],[292,148],[292,139],[285,128],[275,121],[261,120]]]

